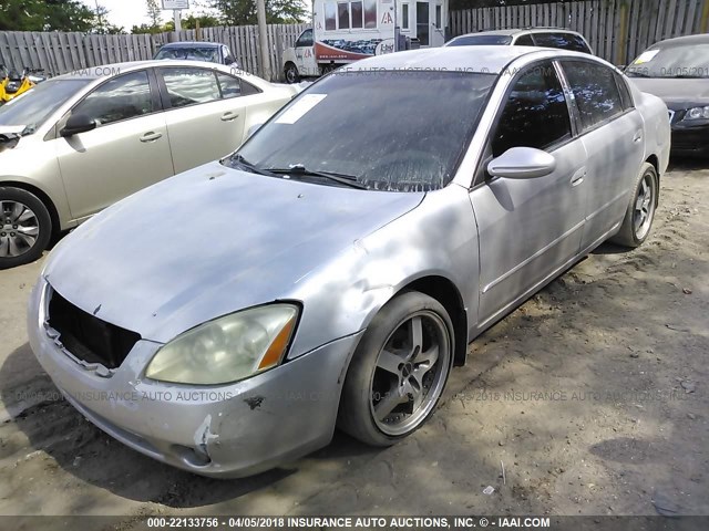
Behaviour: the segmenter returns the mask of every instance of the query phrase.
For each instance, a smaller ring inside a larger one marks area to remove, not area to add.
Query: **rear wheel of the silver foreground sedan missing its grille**
[[[659,179],[651,164],[645,163],[635,179],[633,196],[620,230],[610,241],[630,249],[640,247],[653,228],[659,197]]]

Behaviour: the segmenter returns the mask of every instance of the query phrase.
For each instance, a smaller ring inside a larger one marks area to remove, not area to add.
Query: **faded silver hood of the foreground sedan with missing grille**
[[[314,269],[423,197],[210,163],[82,225],[52,251],[43,274],[74,305],[162,343],[217,316],[287,299]]]

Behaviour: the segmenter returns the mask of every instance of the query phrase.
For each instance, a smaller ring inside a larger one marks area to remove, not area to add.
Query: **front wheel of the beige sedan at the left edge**
[[[51,237],[52,218],[37,196],[0,187],[0,269],[39,259]]]

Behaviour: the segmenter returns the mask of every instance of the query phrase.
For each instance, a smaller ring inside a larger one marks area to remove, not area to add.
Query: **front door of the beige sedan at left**
[[[93,131],[54,144],[66,197],[74,219],[174,174],[167,127],[154,73],[131,72],[99,85],[58,124],[85,114],[99,124]]]

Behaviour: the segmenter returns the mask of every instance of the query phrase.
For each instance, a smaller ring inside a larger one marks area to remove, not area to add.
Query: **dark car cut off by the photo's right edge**
[[[626,69],[669,107],[672,154],[709,156],[709,34],[658,42]]]

